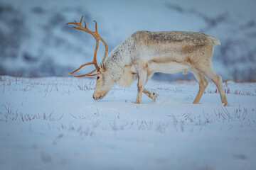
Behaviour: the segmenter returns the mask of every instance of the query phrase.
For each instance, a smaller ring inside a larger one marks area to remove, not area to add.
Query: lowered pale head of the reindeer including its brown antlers
[[[93,38],[95,38],[95,40],[96,40],[96,47],[95,47],[95,52],[94,52],[92,62],[87,62],[85,64],[82,64],[78,69],[75,69],[75,71],[71,72],[70,74],[73,74],[73,73],[77,72],[79,69],[81,69],[82,67],[84,67],[86,65],[94,64],[95,69],[92,70],[92,72],[89,72],[87,74],[83,74],[83,75],[80,75],[80,76],[74,76],[74,77],[86,77],[86,76],[95,76],[96,75],[95,92],[94,92],[92,97],[95,100],[102,99],[107,94],[107,92],[110,91],[110,89],[114,85],[114,81],[112,81],[112,79],[110,78],[110,75],[107,73],[107,69],[105,68],[105,65],[104,65],[104,62],[105,62],[105,59],[106,59],[106,56],[107,56],[107,43],[97,33],[97,22],[96,21],[95,21],[95,31],[94,32],[87,29],[86,23],[85,23],[85,27],[82,27],[82,25],[81,25],[82,24],[82,18],[80,20],[80,23],[74,21],[74,22],[71,22],[71,23],[67,23],[67,25],[68,24],[74,24],[75,26],[73,28],[78,29],[78,30],[83,30],[86,33],[90,33],[93,36]],[[99,46],[99,41],[100,40],[105,45],[105,54],[104,54],[104,57],[102,59],[100,67],[99,67],[97,65],[96,55],[97,55],[97,48]],[[96,71],[97,71],[97,74],[93,74]]]

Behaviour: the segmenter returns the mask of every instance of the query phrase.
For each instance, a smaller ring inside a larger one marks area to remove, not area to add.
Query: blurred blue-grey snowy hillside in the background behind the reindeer
[[[0,0],[0,74],[60,76],[91,60],[90,35],[65,26],[84,16],[98,23],[110,51],[137,30],[188,30],[214,35],[213,65],[223,79],[256,80],[255,0],[52,1]],[[104,47],[100,46],[99,60]],[[87,68],[90,69],[90,68]],[[86,72],[83,69],[81,72]],[[181,74],[155,79],[193,79]]]

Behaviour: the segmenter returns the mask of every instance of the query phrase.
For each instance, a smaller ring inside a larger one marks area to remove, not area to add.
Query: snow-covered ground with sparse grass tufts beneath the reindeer
[[[0,77],[0,169],[256,169],[256,83],[136,81],[92,99],[95,79]]]

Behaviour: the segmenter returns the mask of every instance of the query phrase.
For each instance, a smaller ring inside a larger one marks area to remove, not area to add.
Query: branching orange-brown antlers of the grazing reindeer
[[[82,16],[83,18],[83,16]],[[97,60],[96,60],[96,55],[97,55],[97,48],[99,46],[99,40],[101,40],[103,42],[103,44],[105,45],[105,54],[104,54],[104,57],[102,59],[102,62],[105,62],[105,59],[107,57],[107,43],[105,42],[105,40],[103,40],[100,35],[97,33],[97,22],[95,22],[95,31],[91,31],[91,30],[88,30],[87,27],[86,27],[86,23],[85,23],[85,27],[82,27],[82,18],[80,20],[80,23],[78,23],[77,21],[74,21],[74,22],[70,22],[70,23],[67,23],[66,25],[68,24],[74,24],[75,26],[73,26],[73,28],[75,29],[78,29],[78,30],[83,30],[85,31],[86,33],[90,33],[96,40],[96,47],[95,47],[95,52],[94,52],[94,55],[93,55],[93,60],[92,62],[87,62],[85,64],[82,64],[78,69],[75,69],[74,72],[70,72],[69,74],[73,74],[75,72],[77,72],[79,69],[81,69],[82,67],[86,66],[86,65],[90,65],[90,64],[94,64],[96,69],[92,70],[92,72],[89,72],[87,74],[83,74],[83,75],[80,75],[80,76],[74,76],[74,77],[86,77],[86,76],[95,76],[96,74],[92,74],[94,73],[96,70],[99,71],[100,70],[100,67],[98,66],[97,64]]]

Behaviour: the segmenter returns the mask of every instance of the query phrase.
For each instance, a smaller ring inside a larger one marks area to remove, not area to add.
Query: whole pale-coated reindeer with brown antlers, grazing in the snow
[[[229,106],[223,89],[222,78],[213,71],[211,58],[213,55],[213,45],[220,45],[218,38],[204,33],[194,33],[186,31],[138,31],[130,35],[124,42],[114,48],[107,58],[107,43],[97,32],[97,22],[95,21],[95,31],[87,29],[86,23],[82,27],[80,23],[74,21],[73,28],[90,33],[96,40],[96,47],[92,62],[82,64],[77,72],[86,65],[94,64],[92,72],[75,77],[96,76],[96,85],[93,98],[102,99],[115,84],[129,87],[138,76],[137,98],[135,103],[142,103],[142,93],[156,100],[157,94],[144,88],[145,84],[155,72],[176,73],[187,70],[196,77],[199,84],[198,94],[193,103],[199,103],[203,92],[208,86],[206,77],[214,82],[220,93],[221,102],[224,106]],[[105,55],[100,66],[97,64],[96,55],[99,41],[105,45]],[[97,74],[93,74],[97,71]]]

